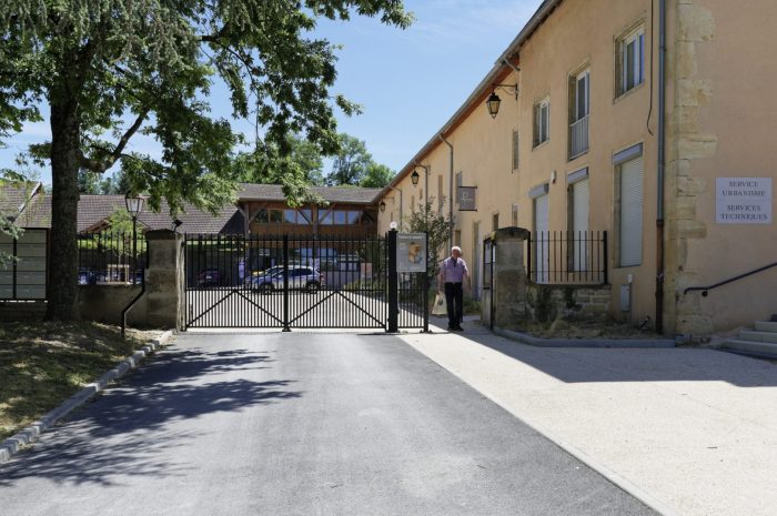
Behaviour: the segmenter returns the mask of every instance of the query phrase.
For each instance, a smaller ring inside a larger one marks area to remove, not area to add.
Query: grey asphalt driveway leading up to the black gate
[[[17,515],[655,513],[387,335],[189,334],[0,466]]]

